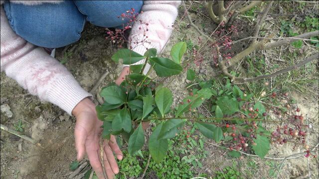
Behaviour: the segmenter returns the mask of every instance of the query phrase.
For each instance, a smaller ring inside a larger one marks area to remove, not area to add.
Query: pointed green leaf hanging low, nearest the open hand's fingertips
[[[142,127],[142,122],[140,123],[139,127],[133,132],[129,139],[129,153],[133,156],[137,151],[142,149],[144,145],[144,130]]]

